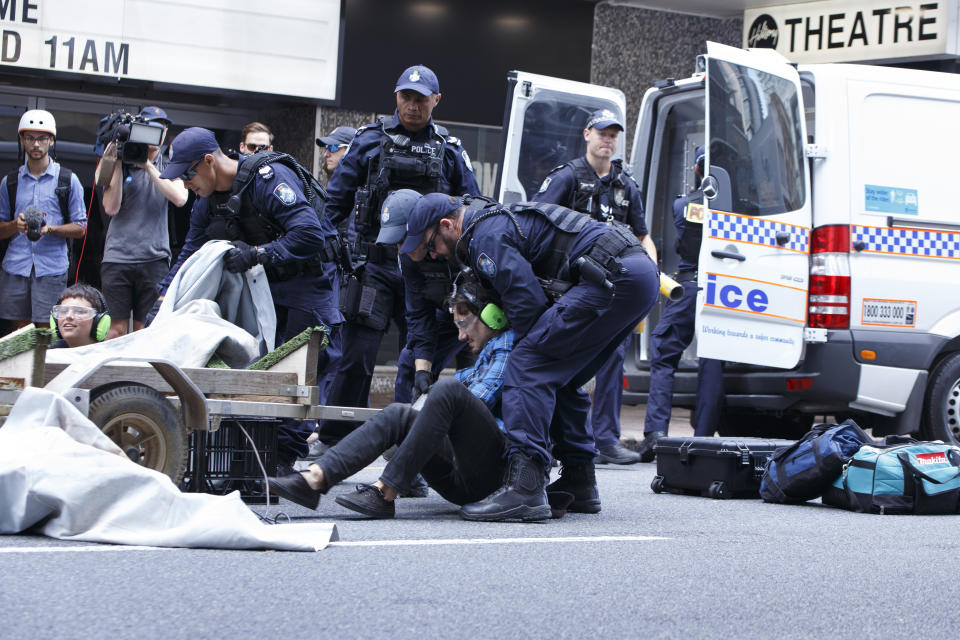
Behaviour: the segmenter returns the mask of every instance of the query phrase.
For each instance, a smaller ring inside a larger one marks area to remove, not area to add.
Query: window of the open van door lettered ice
[[[711,58],[710,173],[734,213],[773,215],[803,206],[803,138],[796,86]],[[715,171],[719,169],[719,171]],[[726,176],[729,176],[727,184]]]

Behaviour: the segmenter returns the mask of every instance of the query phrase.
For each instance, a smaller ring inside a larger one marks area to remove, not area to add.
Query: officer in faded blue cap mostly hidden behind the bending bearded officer
[[[399,245],[407,235],[407,216],[420,194],[413,189],[394,191],[383,203],[377,243]],[[400,256],[400,273],[406,306],[407,345],[397,359],[394,402],[414,402],[437,380],[440,371],[461,352],[449,306],[444,304],[453,286],[454,268],[443,258],[425,257],[414,262]],[[414,372],[414,362],[432,364]]]

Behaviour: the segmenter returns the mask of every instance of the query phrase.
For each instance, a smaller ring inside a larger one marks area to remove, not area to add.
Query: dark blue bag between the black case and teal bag
[[[777,449],[763,472],[764,502],[797,503],[820,497],[865,443],[873,443],[853,420],[820,424],[796,444]]]

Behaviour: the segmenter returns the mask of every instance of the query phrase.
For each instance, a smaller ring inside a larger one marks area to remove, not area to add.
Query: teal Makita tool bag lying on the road
[[[957,513],[958,501],[960,447],[896,436],[861,447],[823,494],[862,513]]]

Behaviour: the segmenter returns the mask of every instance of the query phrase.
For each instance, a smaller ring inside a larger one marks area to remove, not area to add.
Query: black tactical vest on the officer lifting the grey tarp
[[[242,240],[256,246],[267,244],[284,235],[283,227],[254,208],[246,193],[259,170],[273,163],[292,169],[300,178],[303,194],[317,213],[317,219],[322,220],[326,216],[327,193],[320,183],[286,153],[261,151],[248,156],[240,165],[227,201],[222,204],[213,203],[206,229],[208,237],[214,240]]]

